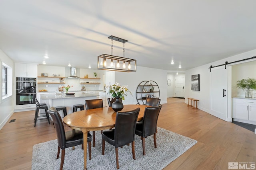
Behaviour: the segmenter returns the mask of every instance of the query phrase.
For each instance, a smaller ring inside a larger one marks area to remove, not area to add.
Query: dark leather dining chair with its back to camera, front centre
[[[119,169],[118,147],[132,143],[132,157],[135,159],[134,136],[140,108],[132,111],[116,112],[115,129],[102,132],[102,155],[105,152],[105,141],[116,148],[116,168]]]

